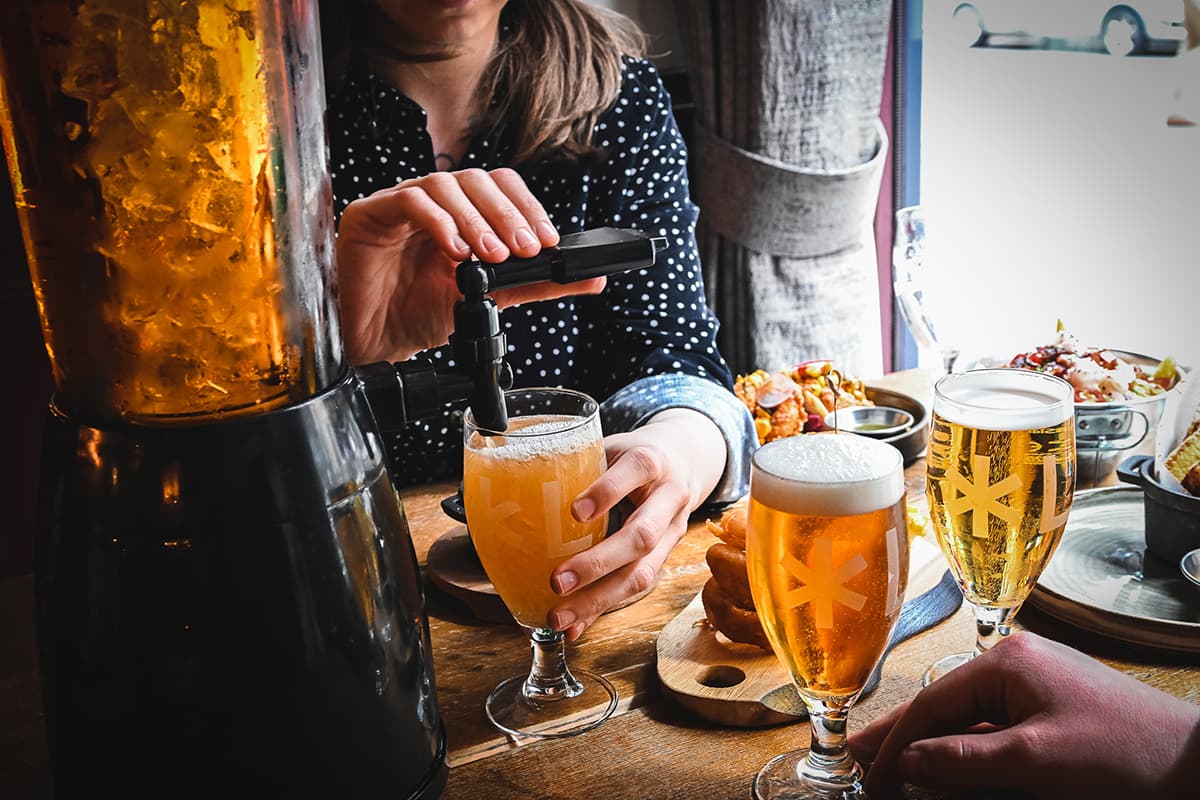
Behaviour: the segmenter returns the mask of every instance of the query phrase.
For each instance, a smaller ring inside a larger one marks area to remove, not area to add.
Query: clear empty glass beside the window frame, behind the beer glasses
[[[959,344],[946,335],[944,289],[935,287],[931,273],[932,260],[926,237],[928,213],[924,206],[910,205],[899,209],[892,241],[892,287],[896,305],[912,337],[923,348],[936,350],[942,357],[942,368],[949,373],[959,359]]]

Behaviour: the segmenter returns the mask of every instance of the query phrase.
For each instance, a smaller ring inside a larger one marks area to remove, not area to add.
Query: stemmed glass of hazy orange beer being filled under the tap
[[[565,389],[504,395],[509,429],[464,417],[463,505],[479,560],[514,619],[529,630],[533,666],[502,681],[485,704],[499,730],[569,736],[600,724],[617,708],[612,684],[566,667],[564,634],[546,626],[559,597],[550,573],[605,536],[607,519],[571,516],[571,501],[605,470],[600,407]]]

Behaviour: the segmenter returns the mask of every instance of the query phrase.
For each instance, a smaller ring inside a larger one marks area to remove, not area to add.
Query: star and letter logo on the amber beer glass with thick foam
[[[892,613],[900,603],[900,542],[895,528],[888,528],[887,546],[888,613]],[[854,553],[841,563],[834,564],[833,540],[828,536],[818,536],[812,540],[812,549],[809,553],[810,563],[802,561],[791,553],[785,554],[780,560],[787,575],[800,584],[796,589],[784,593],[780,606],[799,608],[812,603],[815,624],[821,628],[833,627],[834,603],[845,606],[853,612],[863,610],[866,595],[846,585],[846,582],[866,569],[866,559],[863,558],[863,554]]]

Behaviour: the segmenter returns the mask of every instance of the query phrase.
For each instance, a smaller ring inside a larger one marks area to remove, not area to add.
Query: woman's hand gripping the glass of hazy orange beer
[[[551,585],[566,600],[550,613],[554,630],[576,639],[617,603],[654,584],[689,515],[725,470],[725,438],[703,414],[672,408],[629,433],[605,437],[608,469],[580,494],[571,513],[587,522],[628,501],[619,530],[566,559]]]

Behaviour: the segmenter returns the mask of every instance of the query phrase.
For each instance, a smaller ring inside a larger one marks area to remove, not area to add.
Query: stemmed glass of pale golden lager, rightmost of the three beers
[[[934,663],[929,685],[1008,634],[1058,546],[1075,492],[1072,385],[1028,369],[943,375],[925,465],[937,541],[976,614],[974,651]]]

